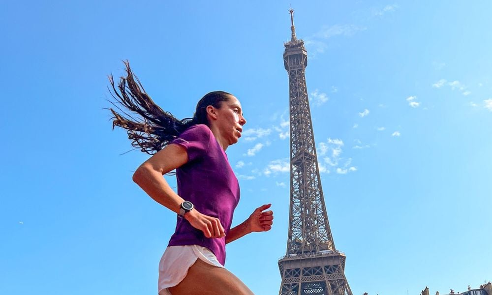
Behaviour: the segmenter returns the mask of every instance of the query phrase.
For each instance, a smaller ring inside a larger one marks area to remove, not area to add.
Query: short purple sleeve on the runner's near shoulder
[[[169,144],[176,144],[185,148],[188,154],[188,162],[191,162],[207,153],[212,136],[212,131],[207,125],[196,124],[184,130],[178,138]]]

